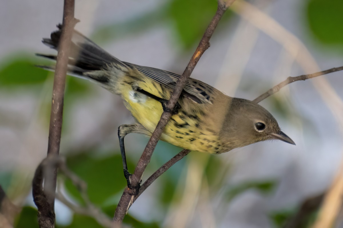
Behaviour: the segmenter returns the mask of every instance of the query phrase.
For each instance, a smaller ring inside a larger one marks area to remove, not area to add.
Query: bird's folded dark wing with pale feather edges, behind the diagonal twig
[[[137,69],[139,72],[141,72],[143,75],[145,75],[148,78],[151,78],[152,80],[170,88],[174,89],[177,80],[180,78],[180,75],[177,75],[175,73],[153,68],[153,67],[144,67],[135,65],[132,63],[123,62],[125,65]],[[211,102],[211,94],[213,94],[213,91],[215,89],[196,79],[188,78],[187,83],[184,87],[184,90],[182,91],[182,95],[185,97],[188,97],[192,99],[194,102],[197,102],[199,104],[204,103],[212,103]]]

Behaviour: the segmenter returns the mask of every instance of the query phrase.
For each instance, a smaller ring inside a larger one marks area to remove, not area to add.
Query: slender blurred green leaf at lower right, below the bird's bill
[[[232,200],[236,196],[249,189],[256,189],[262,194],[268,194],[274,190],[275,184],[276,182],[274,180],[245,182],[230,188],[227,191],[227,198],[228,200]]]

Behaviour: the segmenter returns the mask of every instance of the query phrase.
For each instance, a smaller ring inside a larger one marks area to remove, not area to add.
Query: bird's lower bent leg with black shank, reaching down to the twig
[[[131,189],[136,189],[136,193],[138,193],[139,191],[142,180],[138,183],[137,187],[133,187],[131,185],[132,174],[129,173],[127,162],[126,162],[124,137],[129,133],[144,133],[145,131],[147,130],[140,124],[123,124],[123,125],[120,125],[118,128],[119,146],[120,146],[121,159],[123,161],[124,176],[126,178],[128,187]]]

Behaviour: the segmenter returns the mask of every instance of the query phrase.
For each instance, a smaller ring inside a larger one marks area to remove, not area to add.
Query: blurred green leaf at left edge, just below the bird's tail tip
[[[42,83],[48,71],[35,67],[31,58],[13,58],[0,67],[0,85],[26,85]]]

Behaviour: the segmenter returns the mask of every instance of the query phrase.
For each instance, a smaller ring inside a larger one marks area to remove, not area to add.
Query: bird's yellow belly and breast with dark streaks
[[[144,90],[144,88],[142,89]],[[149,89],[149,93],[151,93],[151,88]],[[154,89],[160,88],[154,87]],[[147,89],[145,88],[145,90]],[[158,94],[158,91],[153,92]],[[149,130],[151,135],[163,113],[161,103],[130,88],[125,92],[122,91],[121,95],[133,117]],[[197,118],[194,113],[188,115],[189,111],[181,106],[179,113],[173,115],[166,125],[161,140],[193,151],[217,152],[218,147],[221,146],[218,143],[217,133],[210,129],[203,129],[200,121],[202,118]]]

